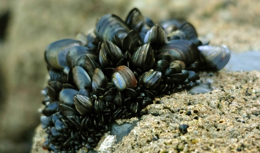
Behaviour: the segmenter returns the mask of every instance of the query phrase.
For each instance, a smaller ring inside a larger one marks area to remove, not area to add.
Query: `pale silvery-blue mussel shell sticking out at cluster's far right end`
[[[230,51],[225,45],[205,45],[198,47],[200,60],[209,70],[219,71],[227,64]]]

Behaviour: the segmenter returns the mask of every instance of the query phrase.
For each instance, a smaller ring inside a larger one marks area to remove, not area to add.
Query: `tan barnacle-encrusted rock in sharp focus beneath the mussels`
[[[200,76],[202,82],[211,82],[213,91],[195,95],[183,91],[156,98],[154,104],[146,107],[149,114],[143,115],[112,150],[259,152],[260,72],[202,72]],[[181,133],[181,124],[189,126],[187,133]],[[43,152],[38,145],[43,142],[42,134],[38,132],[44,132],[37,130],[32,153]],[[99,150],[100,143],[95,150]]]

